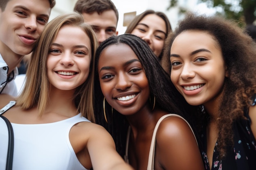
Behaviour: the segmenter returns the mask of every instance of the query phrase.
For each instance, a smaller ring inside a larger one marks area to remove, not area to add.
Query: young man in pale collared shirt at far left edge
[[[18,64],[32,51],[55,0],[0,1],[0,94],[16,96]]]

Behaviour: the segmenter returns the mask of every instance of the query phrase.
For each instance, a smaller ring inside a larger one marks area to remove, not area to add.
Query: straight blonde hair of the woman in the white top
[[[72,12],[59,15],[45,27],[38,38],[27,69],[27,79],[22,93],[17,98],[17,105],[28,110],[38,108],[38,116],[42,116],[47,103],[49,103],[49,80],[47,77],[47,57],[50,46],[55,40],[58,31],[65,25],[78,26],[84,30],[90,39],[92,60],[87,80],[76,88],[73,101],[77,110],[84,117],[95,122],[93,111],[94,90],[94,57],[98,42],[91,26],[84,23],[83,16]]]

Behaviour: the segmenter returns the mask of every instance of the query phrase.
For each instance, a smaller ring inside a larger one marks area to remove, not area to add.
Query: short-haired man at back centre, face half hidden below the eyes
[[[92,26],[99,44],[117,35],[118,11],[111,0],[78,0],[74,11],[81,13]]]

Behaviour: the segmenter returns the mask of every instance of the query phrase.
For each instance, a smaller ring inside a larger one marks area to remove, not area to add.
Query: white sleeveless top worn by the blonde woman
[[[14,124],[13,170],[86,170],[70,144],[75,124],[88,121],[78,115],[48,124]],[[5,169],[8,130],[0,118],[0,170]]]

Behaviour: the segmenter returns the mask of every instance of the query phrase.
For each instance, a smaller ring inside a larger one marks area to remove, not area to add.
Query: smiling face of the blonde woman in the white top
[[[92,51],[88,35],[77,26],[63,26],[47,58],[52,89],[73,90],[88,78]]]

